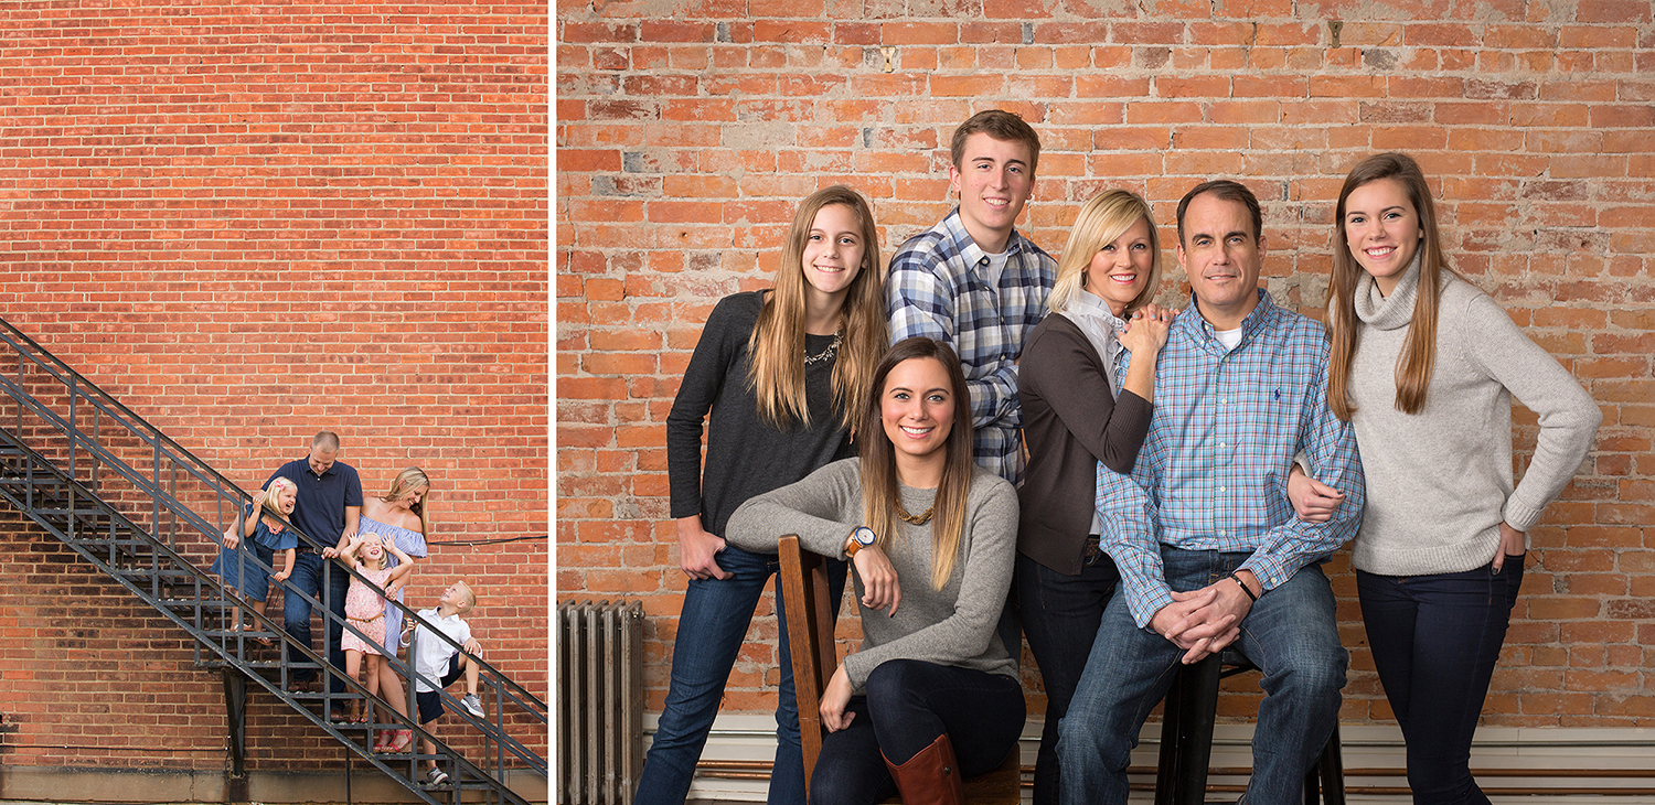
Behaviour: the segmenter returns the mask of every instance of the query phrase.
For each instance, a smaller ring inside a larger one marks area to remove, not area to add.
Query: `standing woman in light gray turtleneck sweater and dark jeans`
[[[1350,564],[1374,664],[1407,741],[1413,802],[1486,803],[1471,734],[1523,584],[1524,532],[1581,466],[1602,415],[1448,269],[1410,157],[1350,170],[1334,241],[1327,402],[1355,426],[1367,474]],[[1541,426],[1518,484],[1513,397]]]

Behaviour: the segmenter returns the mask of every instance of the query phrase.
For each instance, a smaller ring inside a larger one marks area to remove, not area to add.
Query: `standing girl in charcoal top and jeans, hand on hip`
[[[775,555],[725,545],[748,498],[851,455],[856,402],[889,339],[879,241],[867,202],[834,185],[799,203],[771,291],[713,307],[667,415],[679,560],[690,577],[672,681],[637,802],[684,802]],[[708,417],[710,413],[710,417]],[[702,422],[707,464],[702,469]],[[844,565],[837,570],[844,584]],[[786,618],[776,597],[781,689],[770,802],[804,800]]]

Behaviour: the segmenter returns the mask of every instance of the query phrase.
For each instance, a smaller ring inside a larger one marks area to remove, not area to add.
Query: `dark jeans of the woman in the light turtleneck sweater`
[[[1355,572],[1374,668],[1408,745],[1417,805],[1488,803],[1471,779],[1471,736],[1523,587],[1523,557],[1460,574]]]

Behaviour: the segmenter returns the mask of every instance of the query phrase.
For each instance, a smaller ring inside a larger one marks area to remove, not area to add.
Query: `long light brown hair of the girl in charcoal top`
[[[862,193],[844,185],[824,187],[793,213],[788,240],[781,248],[776,284],[765,299],[758,324],[748,339],[751,355],[748,382],[758,400],[758,415],[773,426],[793,418],[804,425],[811,412],[804,400],[804,243],[823,207],[844,205],[857,217],[862,238],[862,268],[839,311],[842,324],[839,354],[832,367],[832,400],[844,426],[856,430],[861,408],[857,395],[867,388],[874,362],[890,341],[885,321],[884,263],[879,261],[879,231],[874,210]]]

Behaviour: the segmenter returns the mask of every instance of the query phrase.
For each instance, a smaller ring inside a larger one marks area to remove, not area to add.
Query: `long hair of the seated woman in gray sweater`
[[[879,536],[879,544],[890,550],[900,539],[900,519],[897,519],[897,503],[902,498],[897,489],[897,450],[885,435],[880,422],[880,407],[885,398],[885,377],[904,360],[928,359],[937,360],[948,372],[948,385],[953,388],[953,426],[943,443],[947,461],[942,468],[942,481],[937,484],[935,517],[932,519],[932,588],[940,590],[953,575],[955,560],[960,557],[960,534],[965,531],[965,498],[971,491],[971,390],[965,385],[965,372],[960,370],[960,357],[953,349],[940,341],[923,336],[902,339],[885,352],[874,369],[874,382],[867,388],[867,403],[862,407],[866,430],[862,443],[862,522]]]

